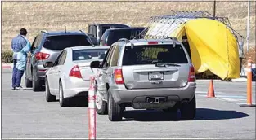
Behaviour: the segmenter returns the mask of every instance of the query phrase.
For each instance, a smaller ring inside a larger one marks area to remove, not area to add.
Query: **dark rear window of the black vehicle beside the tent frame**
[[[138,29],[117,29],[111,30],[109,37],[107,38],[107,45],[111,45],[117,42],[120,38],[127,38],[128,40],[137,37],[139,33],[143,31],[143,28]]]

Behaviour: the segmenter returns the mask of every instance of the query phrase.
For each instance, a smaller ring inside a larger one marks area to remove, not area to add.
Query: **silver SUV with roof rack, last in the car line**
[[[120,39],[108,50],[97,74],[96,109],[109,120],[122,120],[125,107],[181,111],[195,117],[195,69],[177,39]]]

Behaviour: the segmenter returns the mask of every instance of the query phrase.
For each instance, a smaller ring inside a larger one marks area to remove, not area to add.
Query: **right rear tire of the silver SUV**
[[[180,111],[182,120],[193,120],[196,113],[195,96],[190,102],[182,103]]]

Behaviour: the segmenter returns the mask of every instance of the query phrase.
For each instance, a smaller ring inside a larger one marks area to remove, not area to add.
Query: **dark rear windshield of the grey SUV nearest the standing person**
[[[64,50],[71,46],[89,46],[90,42],[84,35],[63,35],[47,37],[43,47],[51,50]]]

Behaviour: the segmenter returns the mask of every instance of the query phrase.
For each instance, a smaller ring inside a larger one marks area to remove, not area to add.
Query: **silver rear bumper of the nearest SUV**
[[[146,103],[148,97],[166,97],[168,101],[191,100],[195,95],[196,83],[187,83],[182,88],[127,90],[124,85],[111,86],[115,103]]]

